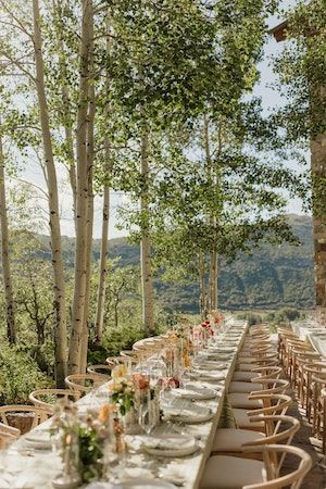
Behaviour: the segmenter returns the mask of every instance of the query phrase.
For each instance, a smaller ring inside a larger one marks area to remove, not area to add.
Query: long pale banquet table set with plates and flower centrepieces
[[[200,480],[203,475],[205,461],[210,455],[214,434],[221,417],[225,392],[228,390],[228,385],[233,377],[233,373],[237,361],[237,351],[240,349],[243,342],[246,331],[248,329],[247,324],[243,321],[229,319],[228,327],[224,337],[221,338],[220,346],[223,347],[223,341],[228,336],[228,331],[237,330],[238,346],[234,353],[229,354],[229,359],[225,361],[225,378],[220,381],[210,381],[208,386],[214,388],[218,386],[217,397],[206,401],[196,401],[196,405],[209,408],[212,411],[212,418],[204,423],[197,424],[174,424],[162,423],[159,430],[160,434],[175,434],[183,431],[189,436],[193,436],[199,446],[199,450],[189,456],[180,457],[160,457],[155,460],[154,456],[147,455],[141,451],[130,450],[127,453],[127,463],[123,467],[123,475],[127,479],[133,479],[142,475],[143,477],[158,477],[153,467],[162,466],[167,474],[166,478],[161,475],[162,479],[173,482],[174,474],[181,474],[183,480],[180,484],[175,482],[176,486],[184,487],[185,489],[196,489],[200,485]],[[223,372],[223,371],[222,371]],[[193,380],[191,380],[193,381]],[[203,383],[196,380],[199,386]],[[104,385],[101,387],[102,394],[108,389]],[[91,406],[96,402],[93,393],[88,393],[80,401],[78,405],[80,409]],[[103,401],[104,402],[104,401]],[[177,399],[174,401],[178,409],[183,409],[185,400]],[[51,424],[51,419],[35,428],[35,434],[38,430],[47,429]],[[137,436],[127,436],[127,443],[133,446],[133,442]],[[151,467],[151,468],[148,468]],[[11,444],[11,447],[0,452],[0,489],[50,489],[52,488],[52,479],[60,473],[62,463],[60,457],[52,451],[48,450],[30,450],[26,448],[25,436],[22,436],[17,441]],[[171,476],[168,476],[171,474]],[[172,484],[172,487],[174,484]],[[87,486],[83,486],[87,487]],[[100,487],[100,486],[99,486]],[[104,487],[104,486],[103,486]],[[109,487],[109,486],[105,486]],[[128,487],[131,487],[128,485]],[[112,485],[113,488],[124,488],[123,481],[118,485]]]

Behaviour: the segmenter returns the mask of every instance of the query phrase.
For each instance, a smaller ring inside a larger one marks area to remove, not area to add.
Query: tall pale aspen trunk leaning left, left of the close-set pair
[[[33,0],[34,15],[34,49],[36,64],[36,87],[39,106],[39,117],[42,131],[43,153],[46,160],[48,195],[49,195],[49,214],[50,214],[50,235],[52,264],[54,274],[54,309],[57,315],[55,324],[55,380],[57,386],[64,386],[66,376],[66,309],[65,309],[65,281],[64,267],[62,259],[61,229],[59,216],[59,199],[57,172],[52,151],[52,139],[49,124],[49,111],[45,90],[45,66],[42,58],[42,38],[40,29],[40,12],[38,0]]]

